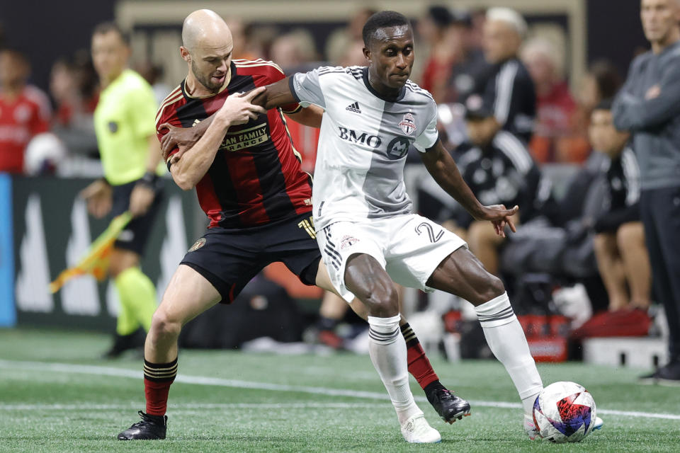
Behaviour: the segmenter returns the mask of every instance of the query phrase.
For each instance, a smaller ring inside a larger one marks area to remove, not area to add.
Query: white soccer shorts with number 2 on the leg
[[[399,285],[421,289],[437,266],[467,243],[443,226],[417,214],[361,222],[335,222],[317,231],[331,283],[347,302],[354,295],[345,286],[345,265],[355,253],[373,256]]]

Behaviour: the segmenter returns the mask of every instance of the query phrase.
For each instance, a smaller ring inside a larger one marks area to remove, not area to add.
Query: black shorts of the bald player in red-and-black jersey
[[[281,261],[305,285],[314,285],[319,268],[312,213],[250,229],[208,229],[180,264],[203,275],[230,304],[266,265]]]

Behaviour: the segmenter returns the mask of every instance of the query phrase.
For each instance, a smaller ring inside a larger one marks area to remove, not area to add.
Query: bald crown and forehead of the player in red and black
[[[193,52],[200,45],[232,46],[232,32],[215,11],[199,9],[186,16],[182,24],[182,45]]]

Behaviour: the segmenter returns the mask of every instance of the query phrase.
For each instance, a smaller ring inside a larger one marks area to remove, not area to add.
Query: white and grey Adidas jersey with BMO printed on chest
[[[326,110],[321,124],[312,203],[314,226],[411,212],[404,163],[438,139],[437,106],[407,81],[396,101],[368,84],[366,67],[321,67],[295,74],[290,88],[303,106]]]

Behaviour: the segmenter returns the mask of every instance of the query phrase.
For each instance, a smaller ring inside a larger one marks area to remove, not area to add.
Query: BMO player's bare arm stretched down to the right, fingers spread
[[[477,220],[489,220],[494,224],[496,234],[505,237],[505,226],[510,226],[512,231],[516,231],[515,225],[511,220],[511,216],[519,211],[519,207],[515,206],[508,210],[504,205],[484,206],[477,200],[475,194],[472,193],[470,187],[460,176],[458,166],[455,161],[448,154],[444,148],[441,140],[437,140],[433,147],[421,154],[425,168],[432,175],[438,185],[446,190],[448,195],[451,195],[456,201],[462,205],[467,212],[470,212],[472,217]]]

